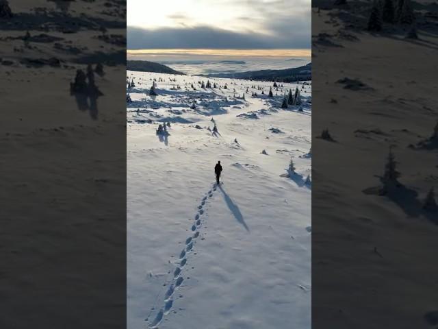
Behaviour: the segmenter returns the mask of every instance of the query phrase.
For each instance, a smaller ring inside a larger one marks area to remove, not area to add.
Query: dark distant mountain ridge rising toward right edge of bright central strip
[[[239,73],[214,73],[204,75],[208,77],[230,77],[235,79],[272,80],[277,82],[294,82],[296,80],[311,80],[311,63],[305,66],[283,70],[259,70]]]

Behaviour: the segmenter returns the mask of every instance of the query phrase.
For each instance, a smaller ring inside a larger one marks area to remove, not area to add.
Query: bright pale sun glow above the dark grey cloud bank
[[[127,0],[127,25],[144,29],[205,25],[269,35],[276,21],[310,22],[310,13],[311,0]]]

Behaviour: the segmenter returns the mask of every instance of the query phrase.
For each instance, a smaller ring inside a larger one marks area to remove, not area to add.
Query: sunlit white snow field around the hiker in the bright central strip
[[[127,78],[127,328],[311,328],[310,82]]]

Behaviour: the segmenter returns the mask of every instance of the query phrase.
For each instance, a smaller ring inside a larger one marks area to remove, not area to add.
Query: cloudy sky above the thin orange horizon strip
[[[310,51],[311,0],[127,0],[127,25],[128,49]]]

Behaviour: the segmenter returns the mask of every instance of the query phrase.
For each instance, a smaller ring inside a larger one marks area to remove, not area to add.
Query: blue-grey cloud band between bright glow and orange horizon
[[[307,18],[310,22],[310,17]],[[231,32],[209,26],[143,29],[127,27],[128,49],[309,49],[311,27],[307,21],[280,18],[268,27],[270,35]],[[307,26],[308,25],[308,26]]]

